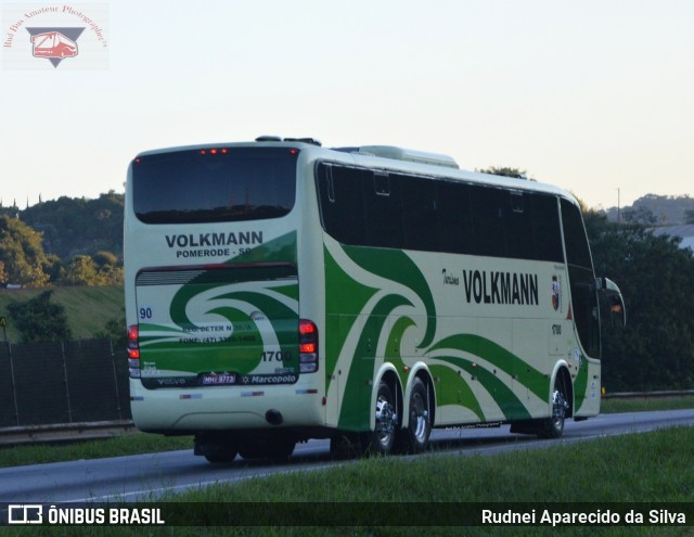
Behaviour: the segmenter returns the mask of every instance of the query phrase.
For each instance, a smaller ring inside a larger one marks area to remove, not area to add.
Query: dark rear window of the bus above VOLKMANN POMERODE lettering
[[[282,217],[294,207],[297,155],[288,148],[220,148],[138,157],[136,216],[145,223]]]

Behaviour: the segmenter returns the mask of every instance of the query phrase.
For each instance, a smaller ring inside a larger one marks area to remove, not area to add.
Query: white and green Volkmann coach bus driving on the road
[[[446,155],[313,139],[129,165],[130,401],[210,462],[421,452],[433,427],[558,437],[600,412],[599,292],[577,201]]]

